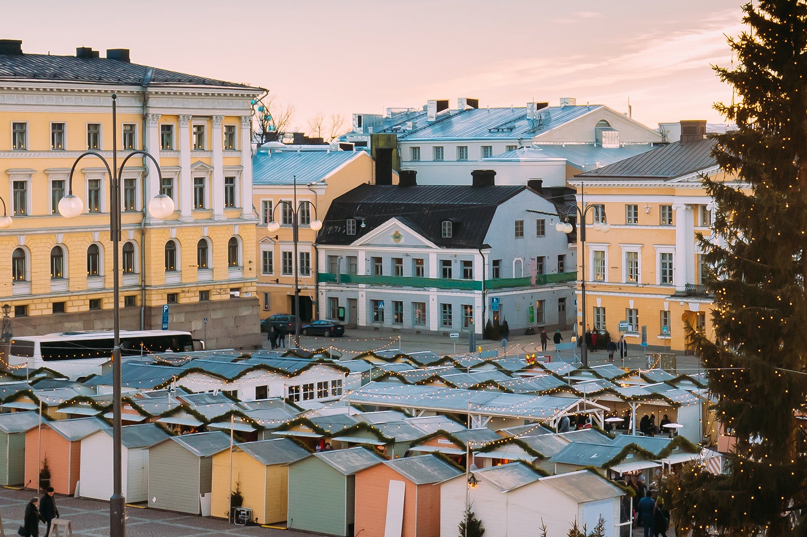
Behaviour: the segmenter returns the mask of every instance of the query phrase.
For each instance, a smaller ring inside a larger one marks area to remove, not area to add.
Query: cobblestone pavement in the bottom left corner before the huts
[[[0,517],[7,535],[17,535],[23,523],[25,505],[36,493],[0,487]],[[74,537],[101,537],[109,535],[109,503],[69,496],[56,496],[61,518],[69,520]],[[222,518],[204,518],[191,514],[173,513],[154,509],[126,508],[126,535],[128,537],[207,537],[232,535],[234,537],[303,537],[315,535],[300,531],[280,530],[261,526],[236,526]],[[44,525],[40,525],[44,535]]]

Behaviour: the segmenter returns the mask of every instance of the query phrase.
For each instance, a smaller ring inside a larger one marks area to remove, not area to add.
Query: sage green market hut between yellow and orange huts
[[[356,473],[384,460],[370,449],[357,447],[314,453],[292,463],[288,527],[352,537]]]

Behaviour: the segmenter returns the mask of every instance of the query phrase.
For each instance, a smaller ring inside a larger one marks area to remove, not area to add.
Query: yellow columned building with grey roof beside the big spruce
[[[624,333],[630,356],[642,353],[642,328],[648,345],[678,351],[688,350],[685,323],[713,337],[713,296],[701,285],[696,235],[711,235],[713,223],[702,174],[720,179],[723,172],[711,156],[706,122],[681,127],[677,142],[569,180],[587,214],[579,256],[587,327],[578,328],[607,330],[613,339]],[[609,231],[594,227],[606,220]]]

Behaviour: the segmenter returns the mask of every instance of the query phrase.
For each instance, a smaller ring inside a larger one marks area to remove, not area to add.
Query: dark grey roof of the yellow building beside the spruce
[[[716,140],[713,138],[684,144],[674,142],[590,172],[580,173],[575,178],[674,179],[717,165],[717,160],[712,156],[715,143]]]

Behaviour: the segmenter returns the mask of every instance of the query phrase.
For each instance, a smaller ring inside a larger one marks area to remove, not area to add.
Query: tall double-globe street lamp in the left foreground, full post
[[[68,194],[59,200],[59,214],[67,219],[76,218],[82,214],[84,204],[80,198],[73,195],[73,172],[79,160],[85,156],[97,156],[106,166],[109,173],[110,184],[110,235],[112,241],[112,329],[114,332],[114,343],[112,348],[112,481],[113,492],[109,502],[109,519],[111,537],[125,537],[126,535],[126,498],[123,497],[123,476],[121,472],[121,370],[120,370],[120,274],[119,274],[119,241],[121,231],[121,207],[120,207],[120,175],[127,161],[132,156],[143,156],[148,158],[157,167],[157,177],[161,176],[160,164],[148,152],[132,151],[123,158],[123,162],[118,168],[118,131],[117,131],[117,95],[112,94],[112,167],[110,168],[107,159],[97,151],[83,152],[73,162],[68,179]],[[166,219],[174,213],[174,200],[165,194],[158,194],[148,202],[148,213],[155,219]]]

